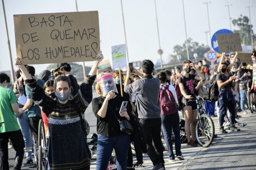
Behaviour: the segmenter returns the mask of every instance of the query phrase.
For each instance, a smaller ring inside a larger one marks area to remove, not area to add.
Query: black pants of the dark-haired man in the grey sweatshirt
[[[164,163],[161,141],[161,118],[140,118],[139,123],[142,125],[148,155],[153,165]]]

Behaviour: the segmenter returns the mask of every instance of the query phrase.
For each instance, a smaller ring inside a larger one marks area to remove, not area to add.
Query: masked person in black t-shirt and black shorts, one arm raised
[[[191,61],[183,62],[183,73],[179,77],[179,87],[182,93],[185,113],[185,132],[188,146],[197,146],[196,143],[196,122],[197,122],[197,103],[194,95],[194,79],[203,80],[204,76],[194,67]],[[192,68],[198,75],[190,74]],[[191,134],[191,136],[190,136]]]

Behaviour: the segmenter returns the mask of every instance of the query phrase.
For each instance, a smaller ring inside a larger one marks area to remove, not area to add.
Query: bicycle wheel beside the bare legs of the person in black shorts
[[[205,114],[200,115],[196,125],[197,142],[202,147],[209,147],[214,140],[215,129],[211,117]]]

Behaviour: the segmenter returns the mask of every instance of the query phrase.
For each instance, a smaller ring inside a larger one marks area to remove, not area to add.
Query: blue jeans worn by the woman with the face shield
[[[98,135],[96,170],[106,170],[113,149],[117,156],[117,169],[127,169],[127,155],[130,146],[130,136],[122,134],[115,137]]]

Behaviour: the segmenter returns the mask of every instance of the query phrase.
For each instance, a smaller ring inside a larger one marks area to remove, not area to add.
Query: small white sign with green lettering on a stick
[[[126,67],[126,48],[124,45],[112,46],[112,66],[113,68]]]

